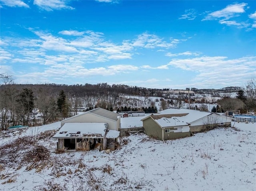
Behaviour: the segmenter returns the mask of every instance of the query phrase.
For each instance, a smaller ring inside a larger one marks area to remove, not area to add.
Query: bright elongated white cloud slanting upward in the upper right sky
[[[244,7],[247,3],[236,3],[226,6],[226,8],[218,11],[211,12],[206,16],[204,20],[214,20],[216,18],[224,18],[228,20],[230,18],[239,16],[239,14],[244,13]]]

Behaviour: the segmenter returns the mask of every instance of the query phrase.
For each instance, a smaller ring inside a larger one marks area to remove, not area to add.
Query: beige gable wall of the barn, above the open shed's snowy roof
[[[118,129],[120,128],[120,118],[118,118],[117,121],[113,121],[108,118],[96,116],[91,113],[86,113],[84,115],[66,119],[65,121],[61,122],[61,127],[65,123],[108,123],[108,129],[118,131]]]

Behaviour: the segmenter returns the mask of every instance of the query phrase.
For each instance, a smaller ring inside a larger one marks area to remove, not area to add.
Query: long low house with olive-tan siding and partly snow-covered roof
[[[142,119],[148,136],[169,140],[190,136],[215,127],[230,126],[232,118],[212,112],[188,109],[167,109]]]

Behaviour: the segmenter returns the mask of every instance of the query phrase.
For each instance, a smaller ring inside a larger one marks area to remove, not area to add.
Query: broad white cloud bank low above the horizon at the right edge
[[[223,87],[228,81],[232,81],[233,84],[241,84],[241,81],[246,83],[246,79],[256,75],[253,69],[255,64],[255,56],[238,59],[203,56],[193,59],[172,59],[168,63],[169,67],[196,72],[196,76],[190,80],[193,87],[210,87],[213,82]]]

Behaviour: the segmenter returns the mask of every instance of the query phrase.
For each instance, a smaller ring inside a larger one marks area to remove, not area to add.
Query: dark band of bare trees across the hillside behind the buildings
[[[18,124],[29,125],[29,113],[42,113],[42,124],[55,122],[84,111],[101,107],[108,110],[144,110],[156,112],[155,102],[139,105],[135,98],[124,100],[122,95],[141,97],[166,97],[161,89],[148,89],[128,85],[57,85],[57,84],[15,84],[11,76],[0,73],[0,121],[1,130]],[[162,110],[181,108],[187,95],[169,95],[169,100],[160,98]],[[156,102],[159,102],[156,99]],[[125,108],[125,107],[126,108]],[[206,108],[196,108],[206,110]],[[236,98],[224,97],[218,100],[216,112],[238,110],[256,112],[256,79],[251,79],[243,89],[239,89]],[[212,112],[214,112],[212,110]],[[36,123],[36,121],[34,121]]]

